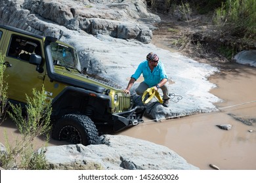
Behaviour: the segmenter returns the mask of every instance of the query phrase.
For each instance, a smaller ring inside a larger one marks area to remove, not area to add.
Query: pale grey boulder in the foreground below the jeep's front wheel
[[[126,137],[102,135],[102,144],[41,148],[51,169],[198,169],[165,146]]]

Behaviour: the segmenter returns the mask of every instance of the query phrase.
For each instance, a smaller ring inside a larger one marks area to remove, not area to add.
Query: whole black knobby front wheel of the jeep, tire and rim
[[[68,141],[85,146],[100,142],[98,130],[91,118],[78,114],[62,116],[54,125],[52,137],[58,141]]]

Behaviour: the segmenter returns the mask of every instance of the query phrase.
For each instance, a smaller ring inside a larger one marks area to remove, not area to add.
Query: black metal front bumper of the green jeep
[[[145,110],[146,107],[137,106],[135,108],[132,108],[131,110],[113,114],[114,131],[121,131],[127,127],[131,127],[133,125],[142,123],[142,117],[144,115]]]

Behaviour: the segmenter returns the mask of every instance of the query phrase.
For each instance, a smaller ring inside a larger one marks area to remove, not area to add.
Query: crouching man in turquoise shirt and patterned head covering
[[[161,88],[163,91],[163,106],[169,107],[169,91],[166,86],[168,77],[165,73],[163,63],[161,63],[157,54],[150,52],[146,56],[146,60],[140,63],[135,73],[131,76],[127,88],[123,90],[125,93],[130,93],[131,87],[141,74],[144,77],[144,81],[139,84],[135,92],[142,96],[148,88],[154,87],[155,90]]]

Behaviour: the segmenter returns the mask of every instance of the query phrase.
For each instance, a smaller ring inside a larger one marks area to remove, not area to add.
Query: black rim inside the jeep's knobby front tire
[[[60,141],[68,141],[74,144],[81,144],[82,138],[80,132],[72,125],[62,127],[58,135]]]

